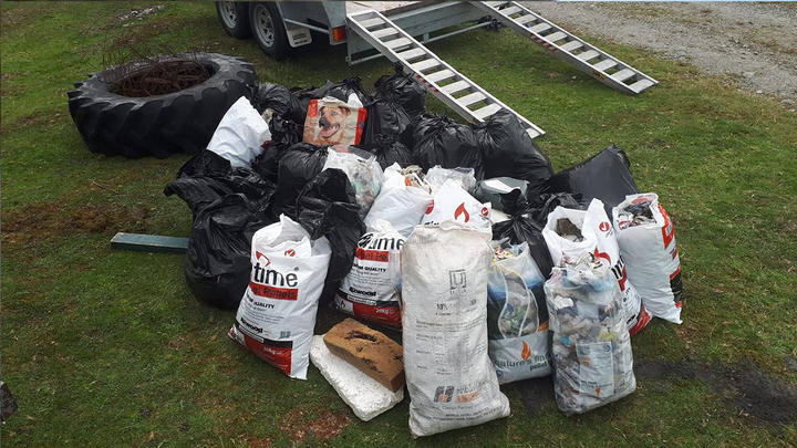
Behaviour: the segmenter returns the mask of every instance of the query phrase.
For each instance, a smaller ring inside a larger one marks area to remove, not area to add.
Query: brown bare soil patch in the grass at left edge
[[[152,211],[143,206],[86,204],[64,209],[59,202],[33,204],[2,211],[2,242],[28,246],[66,235],[137,231]]]

